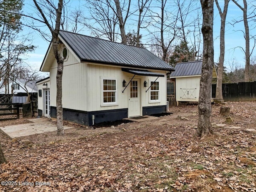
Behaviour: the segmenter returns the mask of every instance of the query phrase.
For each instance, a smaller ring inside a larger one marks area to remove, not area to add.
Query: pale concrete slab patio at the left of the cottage
[[[0,127],[0,131],[12,139],[57,130],[56,124],[45,118],[29,119],[29,121],[31,123]],[[68,128],[71,127],[64,126],[64,129]]]

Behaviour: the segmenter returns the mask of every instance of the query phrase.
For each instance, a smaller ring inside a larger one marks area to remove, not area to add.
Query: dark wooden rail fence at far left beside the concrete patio
[[[0,103],[0,116],[16,115],[17,117],[12,118],[0,118],[0,121],[12,120],[20,118],[20,104],[19,103]],[[16,112],[13,112],[16,110]]]

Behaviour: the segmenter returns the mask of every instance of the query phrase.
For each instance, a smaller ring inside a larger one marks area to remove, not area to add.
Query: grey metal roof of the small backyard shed
[[[201,75],[201,73],[202,60],[190,61],[176,64],[175,71],[170,74],[170,77]]]

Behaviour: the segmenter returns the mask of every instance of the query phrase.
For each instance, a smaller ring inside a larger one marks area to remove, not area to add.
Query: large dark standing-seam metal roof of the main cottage
[[[118,66],[173,71],[174,68],[139,47],[102,40],[82,34],[60,30],[60,37],[70,46],[81,61]]]

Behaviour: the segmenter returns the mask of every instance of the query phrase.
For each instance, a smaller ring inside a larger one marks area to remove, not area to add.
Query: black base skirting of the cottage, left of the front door
[[[56,118],[56,107],[51,106],[51,117]],[[63,120],[75,122],[82,125],[92,125],[92,115],[94,115],[94,124],[122,120],[128,117],[128,108],[102,111],[80,111],[63,108]]]

